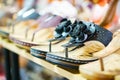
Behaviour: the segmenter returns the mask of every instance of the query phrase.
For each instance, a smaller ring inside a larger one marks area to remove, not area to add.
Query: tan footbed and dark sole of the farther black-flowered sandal
[[[38,58],[42,58],[45,59],[46,58],[46,54],[48,52],[64,52],[64,48],[61,47],[60,45],[67,43],[69,40],[69,38],[65,39],[65,40],[61,40],[61,41],[56,41],[56,43],[52,43],[52,47],[50,49],[50,45],[39,45],[39,46],[32,46],[30,48],[30,53],[31,55],[38,57]],[[48,43],[49,44],[49,43]],[[59,50],[58,50],[59,48]]]

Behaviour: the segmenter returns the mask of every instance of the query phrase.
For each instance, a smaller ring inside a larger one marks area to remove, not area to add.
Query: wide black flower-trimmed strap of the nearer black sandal
[[[84,42],[90,40],[100,41],[105,46],[107,46],[112,40],[112,32],[92,22],[82,21],[80,21],[79,24],[75,26],[74,30],[70,33],[70,36],[71,39],[69,43],[63,45],[63,47],[79,46],[79,44],[84,44]]]

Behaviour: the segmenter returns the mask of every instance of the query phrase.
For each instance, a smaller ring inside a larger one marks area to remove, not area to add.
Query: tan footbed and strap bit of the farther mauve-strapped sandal
[[[15,35],[22,35],[23,37],[27,37],[27,34],[33,33],[36,28],[39,26],[39,24],[49,18],[51,16],[50,13],[46,13],[45,15],[41,16],[37,20],[27,20],[27,21],[21,21],[15,25],[13,25],[13,28],[11,29],[11,33]],[[22,34],[21,34],[22,33]]]

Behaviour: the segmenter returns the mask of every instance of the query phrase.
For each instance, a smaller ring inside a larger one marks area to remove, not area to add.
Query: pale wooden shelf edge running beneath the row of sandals
[[[25,57],[26,59],[29,59],[29,60],[47,68],[53,72],[56,72],[57,74],[59,74],[63,77],[66,77],[70,80],[86,80],[80,74],[71,73],[63,68],[58,67],[57,65],[51,64],[45,60],[42,60],[42,59],[39,59],[39,58],[36,58],[36,57],[30,55],[30,53],[28,53],[25,49],[21,49],[21,48],[17,47],[14,43],[10,43],[6,39],[2,39],[1,37],[0,37],[0,44],[4,48],[15,52],[19,56]]]

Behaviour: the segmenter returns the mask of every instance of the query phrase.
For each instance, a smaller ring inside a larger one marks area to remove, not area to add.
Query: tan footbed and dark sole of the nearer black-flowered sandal
[[[90,53],[94,53],[103,48],[104,45],[98,41],[85,42],[83,47],[69,51],[68,55],[65,55],[64,52],[47,53],[46,60],[62,67],[78,70],[79,65],[98,60],[96,57],[91,56]]]

